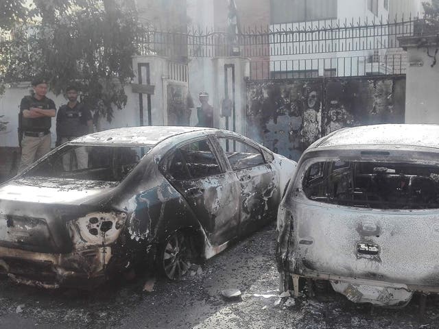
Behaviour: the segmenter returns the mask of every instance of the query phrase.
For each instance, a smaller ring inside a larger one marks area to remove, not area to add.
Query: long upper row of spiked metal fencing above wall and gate
[[[246,27],[230,36],[211,30],[163,32],[150,30],[136,38],[139,55],[216,57],[241,55],[250,58],[310,53],[368,51],[399,47],[398,38],[414,36],[418,18],[394,21],[326,20]]]

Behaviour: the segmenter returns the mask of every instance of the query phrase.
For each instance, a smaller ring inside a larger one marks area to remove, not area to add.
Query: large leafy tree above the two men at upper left
[[[74,82],[95,116],[110,121],[112,105],[119,109],[126,105],[123,86],[134,75],[134,41],[141,33],[134,2],[34,0],[26,10],[21,0],[6,1],[16,7],[1,17],[5,22],[1,28],[9,28],[12,36],[3,41],[8,43],[8,54],[0,55],[4,82],[44,75],[57,95]],[[24,12],[28,15],[25,20]]]

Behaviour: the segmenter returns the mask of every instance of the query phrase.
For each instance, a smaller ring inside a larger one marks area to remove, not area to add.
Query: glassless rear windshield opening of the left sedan
[[[120,182],[149,150],[145,146],[67,145],[27,171],[24,177]]]

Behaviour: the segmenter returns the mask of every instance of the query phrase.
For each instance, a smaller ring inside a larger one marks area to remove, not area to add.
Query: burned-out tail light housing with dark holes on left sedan
[[[125,212],[91,212],[67,223],[73,244],[108,245],[119,237],[126,221]]]

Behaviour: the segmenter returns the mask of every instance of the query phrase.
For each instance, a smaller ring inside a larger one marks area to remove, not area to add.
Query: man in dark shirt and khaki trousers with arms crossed
[[[54,101],[46,97],[47,80],[36,78],[32,87],[34,95],[23,97],[20,103],[19,125],[23,139],[19,172],[50,151],[51,117],[56,115]]]

